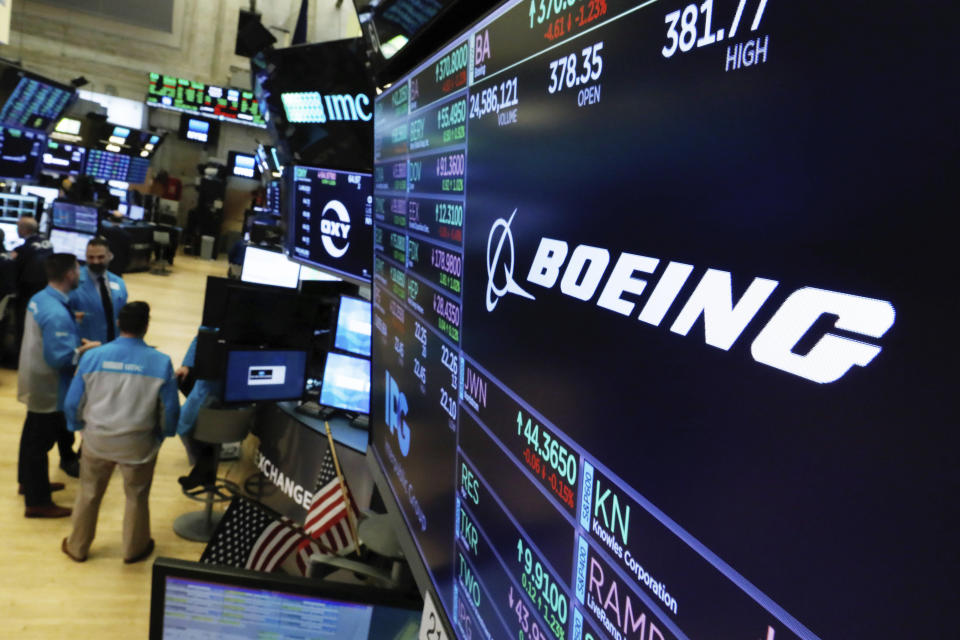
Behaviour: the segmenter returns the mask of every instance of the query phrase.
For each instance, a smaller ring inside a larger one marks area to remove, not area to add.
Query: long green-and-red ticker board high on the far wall
[[[246,89],[151,73],[146,103],[151,107],[195,113],[225,122],[266,126],[257,99]]]

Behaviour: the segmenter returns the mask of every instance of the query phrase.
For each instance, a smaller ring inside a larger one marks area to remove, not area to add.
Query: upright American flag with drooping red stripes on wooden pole
[[[327,446],[303,528],[329,552],[344,553],[353,547],[349,520],[351,511],[356,518],[353,502],[348,503],[340,487],[340,478],[333,463],[333,450]]]

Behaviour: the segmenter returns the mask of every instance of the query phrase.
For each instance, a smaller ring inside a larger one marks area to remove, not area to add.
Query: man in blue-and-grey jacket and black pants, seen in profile
[[[82,340],[68,294],[77,287],[77,259],[55,253],[45,262],[47,286],[35,294],[24,317],[23,343],[17,372],[17,399],[27,405],[27,419],[20,436],[17,475],[26,502],[28,518],[63,518],[70,509],[53,504],[47,452],[66,430],[63,400],[74,366],[84,351],[99,346]]]

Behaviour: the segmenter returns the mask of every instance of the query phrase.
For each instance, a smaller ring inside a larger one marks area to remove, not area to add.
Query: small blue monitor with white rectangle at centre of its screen
[[[227,403],[298,400],[306,385],[307,352],[231,350],[223,399]]]

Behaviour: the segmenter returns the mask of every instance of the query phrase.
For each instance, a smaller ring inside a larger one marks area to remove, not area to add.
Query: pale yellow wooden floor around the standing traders
[[[147,343],[168,354],[174,368],[196,333],[203,307],[207,275],[226,275],[227,263],[177,257],[169,276],[132,273],[125,276],[130,301],[150,303]],[[189,471],[179,439],[164,441],[160,450],[150,518],[154,555],[125,565],[120,552],[123,485],[119,472],[104,496],[97,537],[86,562],[78,564],[60,551],[70,532],[70,519],[27,519],[17,495],[17,450],[25,408],[16,399],[17,372],[0,369],[0,638],[146,638],[150,612],[150,571],[153,558],[169,556],[198,560],[203,544],[173,532],[174,519],[199,509],[184,497],[177,477]],[[182,401],[182,398],[181,398]],[[77,480],[59,466],[54,447],[50,478],[65,482],[54,502],[73,506]],[[220,475],[242,479],[239,469],[224,463]]]

